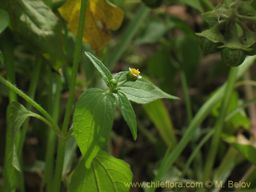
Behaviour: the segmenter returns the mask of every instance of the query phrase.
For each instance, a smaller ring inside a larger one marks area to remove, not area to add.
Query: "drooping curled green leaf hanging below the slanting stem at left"
[[[7,131],[4,182],[6,191],[16,188],[22,181],[22,170],[17,156],[15,139],[20,126],[32,113],[22,104],[12,101],[7,108]]]

